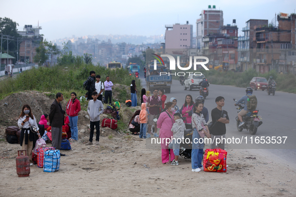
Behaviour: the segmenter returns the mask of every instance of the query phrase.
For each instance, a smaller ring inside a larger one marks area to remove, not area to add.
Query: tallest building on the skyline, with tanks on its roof
[[[223,26],[223,11],[216,10],[216,6],[208,6],[202,10],[200,18],[196,20],[196,46],[201,48],[204,44],[202,38],[210,33],[220,33]]]

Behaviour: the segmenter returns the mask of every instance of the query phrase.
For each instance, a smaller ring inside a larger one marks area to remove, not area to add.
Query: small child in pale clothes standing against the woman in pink
[[[184,137],[184,131],[186,129],[185,123],[181,119],[181,114],[180,113],[175,113],[174,114],[174,120],[175,123],[173,124],[172,127],[172,132],[173,132],[173,140],[169,144],[169,148],[174,150],[174,155],[175,158],[172,160],[171,165],[179,165],[179,150],[180,150],[180,143],[182,141],[182,138]]]

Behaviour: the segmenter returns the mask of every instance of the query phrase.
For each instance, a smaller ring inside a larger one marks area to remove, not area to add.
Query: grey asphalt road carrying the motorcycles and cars
[[[142,86],[146,88],[144,78],[141,78],[141,83]],[[165,93],[165,95],[167,95],[167,101],[171,97],[175,97],[178,100],[177,105],[179,108],[184,104],[185,96],[187,94],[191,94],[193,99],[195,99],[195,97],[199,95],[199,90],[184,90],[178,80],[173,80],[171,92]],[[208,108],[210,114],[211,110],[216,107],[215,98],[219,95],[225,98],[223,109],[228,112],[230,120],[229,124],[226,124],[226,137],[240,139],[242,136],[247,137],[246,145],[228,144],[228,148],[254,149],[254,152],[272,154],[274,157],[278,157],[278,159],[284,159],[294,163],[296,161],[296,153],[294,151],[294,149],[296,149],[296,94],[276,91],[275,95],[272,96],[267,95],[267,92],[262,90],[253,91],[253,94],[257,97],[258,115],[262,116],[263,121],[263,124],[258,127],[255,135],[251,135],[246,129],[239,132],[236,128],[235,117],[237,116],[237,109],[236,106],[234,106],[235,102],[233,101],[233,98],[239,99],[241,96],[245,95],[245,88],[210,84],[209,96],[206,97],[204,106]],[[266,138],[266,136],[287,136],[287,138],[284,144],[284,138],[282,138],[281,143],[255,143],[255,137],[260,139],[261,137]],[[253,137],[252,144],[250,144],[250,137]],[[243,139],[245,142],[245,138]]]

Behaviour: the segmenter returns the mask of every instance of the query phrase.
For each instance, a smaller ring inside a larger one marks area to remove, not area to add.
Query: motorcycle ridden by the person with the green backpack
[[[237,100],[235,98],[233,98],[233,100],[236,102]],[[237,104],[238,105],[238,111],[239,112],[241,109],[244,108],[244,104],[243,103],[239,103]],[[235,117],[235,120],[236,120],[236,127],[237,127],[237,130],[239,132],[242,131],[242,129],[247,129],[250,134],[256,134],[257,132],[257,128],[263,123],[262,121],[260,121],[261,116],[258,116],[258,109],[254,109],[254,110],[251,110],[251,111],[248,111],[246,115],[244,115],[242,117],[243,121],[244,121],[244,124],[241,125],[241,126],[238,126],[240,124],[240,120],[238,119],[238,116]]]

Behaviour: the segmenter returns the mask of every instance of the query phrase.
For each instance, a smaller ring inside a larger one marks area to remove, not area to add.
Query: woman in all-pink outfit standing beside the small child
[[[168,144],[166,144],[166,140],[164,138],[172,138],[173,132],[171,131],[173,124],[175,123],[174,120],[174,111],[175,105],[172,102],[165,103],[166,111],[160,113],[159,118],[157,120],[157,128],[159,130],[159,137],[161,139],[161,160],[163,164],[169,164],[170,160],[174,160],[174,150],[170,149],[171,159],[169,159],[169,150]]]

